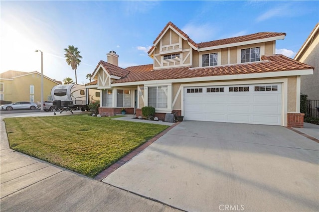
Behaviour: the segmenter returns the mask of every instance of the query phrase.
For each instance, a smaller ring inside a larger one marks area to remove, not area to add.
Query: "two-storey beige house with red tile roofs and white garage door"
[[[303,127],[300,78],[313,67],[276,55],[286,33],[255,34],[196,43],[168,22],[149,50],[153,64],[121,68],[119,55],[107,54],[92,73],[101,91],[100,113],[156,116],[176,112],[185,120]]]

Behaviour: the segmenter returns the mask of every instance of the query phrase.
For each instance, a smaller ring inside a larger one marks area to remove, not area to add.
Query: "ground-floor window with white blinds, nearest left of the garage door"
[[[167,108],[167,86],[149,87],[149,106]]]

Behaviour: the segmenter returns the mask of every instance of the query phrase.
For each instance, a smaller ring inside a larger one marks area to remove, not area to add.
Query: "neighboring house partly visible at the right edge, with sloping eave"
[[[313,66],[314,75],[301,76],[301,93],[309,100],[319,100],[319,23],[299,49],[295,60]]]

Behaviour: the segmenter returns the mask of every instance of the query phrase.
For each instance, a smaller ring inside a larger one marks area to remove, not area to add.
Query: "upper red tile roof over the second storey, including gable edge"
[[[276,37],[276,36],[281,36],[281,35],[286,36],[286,33],[284,33],[284,32],[258,32],[258,33],[243,35],[243,36],[238,36],[238,37],[231,37],[231,38],[225,38],[225,39],[220,39],[220,40],[195,43],[192,39],[189,38],[189,36],[186,33],[184,33],[176,25],[174,25],[172,22],[169,21],[165,25],[165,27],[161,30],[158,37],[154,40],[153,44],[156,43],[156,41],[160,38],[160,36],[164,33],[164,31],[166,30],[166,28],[168,26],[171,26],[174,29],[176,29],[176,31],[178,31],[182,36],[187,38],[187,41],[189,43],[191,43],[193,46],[195,46],[197,48],[205,48],[205,47],[219,46],[219,45],[238,43],[238,42],[244,42],[244,41],[258,40],[258,39]],[[155,48],[155,46],[153,45],[151,47],[151,49],[148,51],[148,53],[150,54],[154,48]]]

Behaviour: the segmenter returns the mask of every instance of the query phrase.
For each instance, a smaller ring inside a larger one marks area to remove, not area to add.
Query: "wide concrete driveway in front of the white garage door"
[[[103,182],[186,211],[318,211],[318,156],[285,127],[183,121]]]

